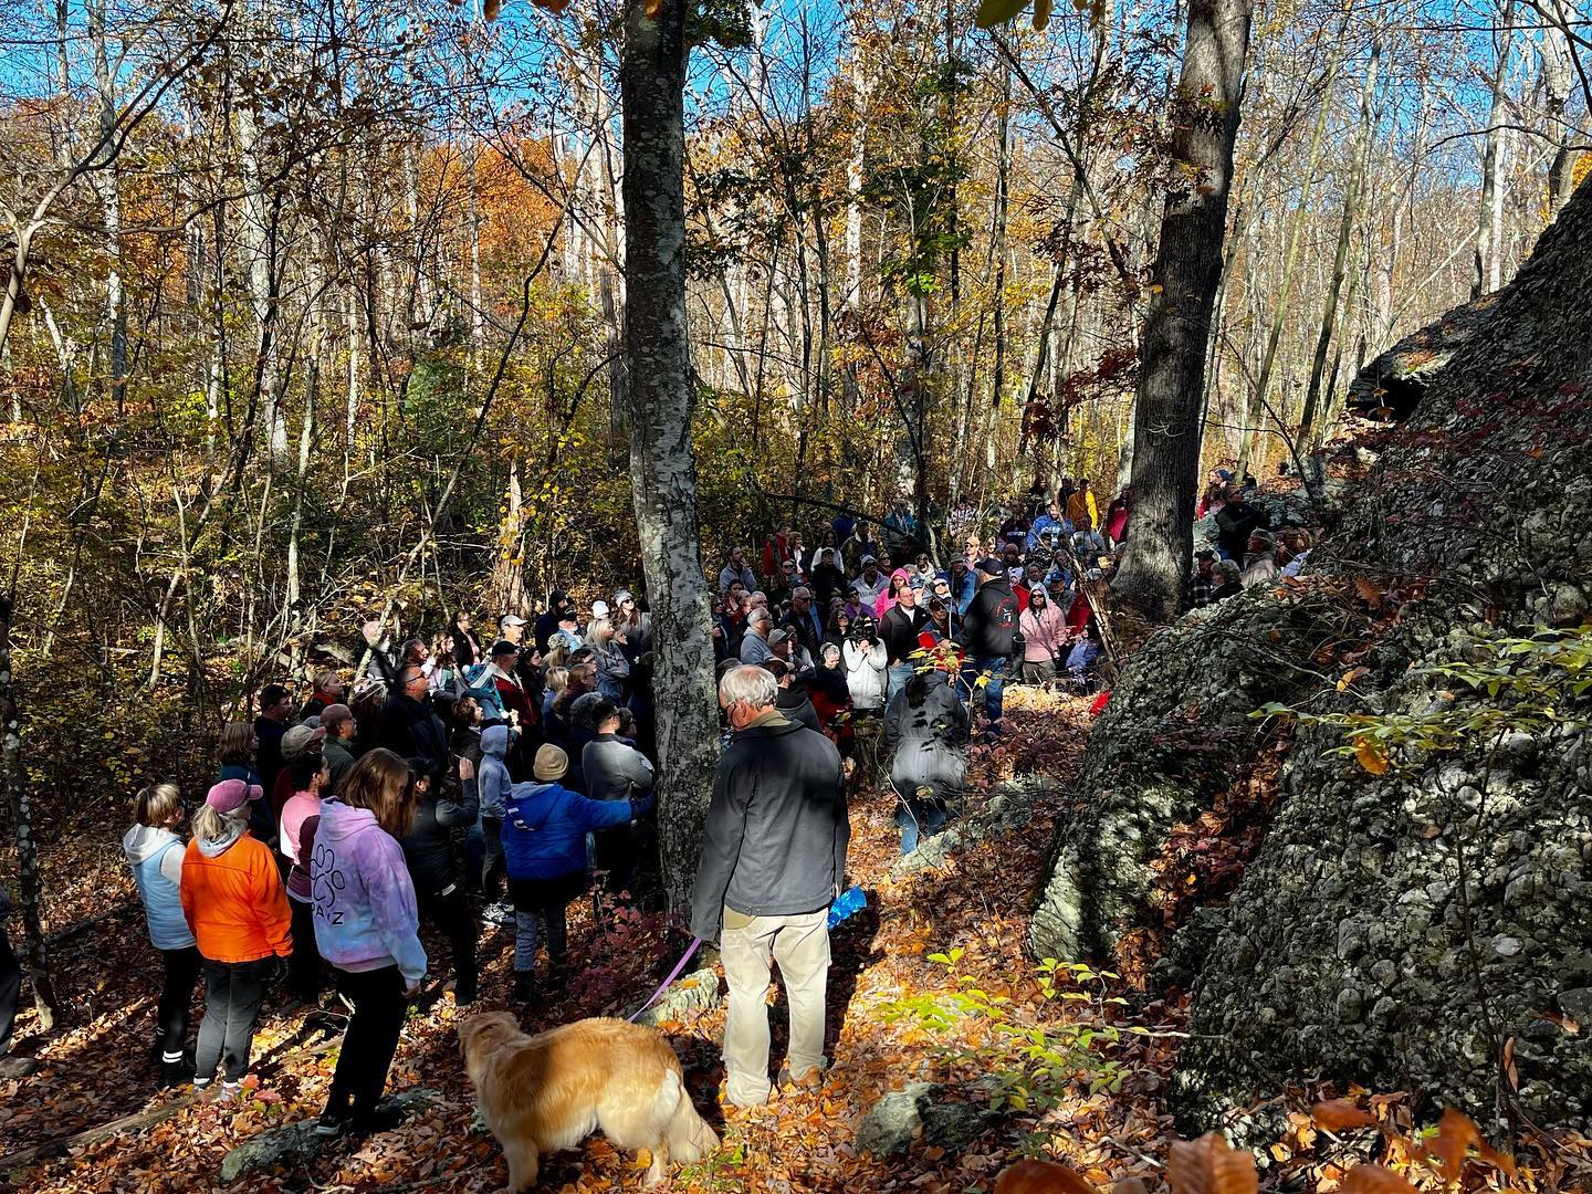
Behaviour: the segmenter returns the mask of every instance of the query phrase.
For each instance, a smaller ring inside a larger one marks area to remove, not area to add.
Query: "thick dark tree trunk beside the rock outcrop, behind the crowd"
[[[1134,535],[1114,587],[1151,613],[1178,608],[1194,546],[1200,380],[1221,244],[1253,0],[1191,0],[1172,154],[1191,172],[1167,194],[1145,320],[1134,416]]]

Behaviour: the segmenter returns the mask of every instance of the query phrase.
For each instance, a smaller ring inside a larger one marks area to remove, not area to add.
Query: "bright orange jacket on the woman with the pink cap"
[[[271,847],[244,834],[215,858],[188,842],[183,915],[210,962],[255,962],[293,952],[293,914]]]

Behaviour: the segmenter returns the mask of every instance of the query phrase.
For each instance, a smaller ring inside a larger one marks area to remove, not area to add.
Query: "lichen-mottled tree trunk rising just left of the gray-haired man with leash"
[[[653,10],[654,14],[650,14]],[[664,884],[691,892],[718,759],[713,638],[697,537],[686,352],[685,0],[627,0],[624,118],[630,487],[657,667],[657,793]]]

